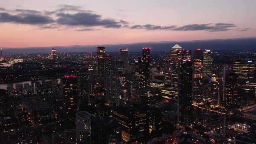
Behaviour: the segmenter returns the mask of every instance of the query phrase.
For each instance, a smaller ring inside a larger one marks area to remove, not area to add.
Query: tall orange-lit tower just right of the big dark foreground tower
[[[193,56],[193,103],[201,104],[203,98],[203,50],[197,49]]]

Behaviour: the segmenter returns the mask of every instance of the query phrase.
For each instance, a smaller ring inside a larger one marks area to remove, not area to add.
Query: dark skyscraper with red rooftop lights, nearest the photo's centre
[[[139,84],[140,88],[150,85],[150,47],[142,48],[142,57],[139,58]]]

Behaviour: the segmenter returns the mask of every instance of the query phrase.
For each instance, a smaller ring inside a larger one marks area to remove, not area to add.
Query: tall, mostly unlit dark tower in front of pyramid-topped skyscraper
[[[178,98],[177,98],[177,121],[181,125],[190,125],[192,117],[192,62],[179,60],[178,65]]]

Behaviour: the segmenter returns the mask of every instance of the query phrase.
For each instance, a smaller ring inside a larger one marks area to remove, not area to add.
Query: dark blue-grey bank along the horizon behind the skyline
[[[179,44],[184,49],[213,49],[215,51],[256,51],[256,38],[238,39],[214,39],[214,40],[194,40],[180,42],[147,42],[130,44],[108,44],[106,52],[118,52],[119,48],[128,48],[130,52],[141,51],[142,47],[151,47],[152,51],[169,51],[172,46]],[[57,52],[95,52],[96,46],[53,46]],[[29,47],[29,48],[3,48],[3,53],[38,53],[50,52],[53,47]]]

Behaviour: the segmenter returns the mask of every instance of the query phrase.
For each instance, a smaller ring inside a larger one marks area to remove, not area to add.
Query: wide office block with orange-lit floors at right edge
[[[253,79],[255,64],[252,60],[238,60],[233,64],[233,71],[238,75],[239,79]]]

